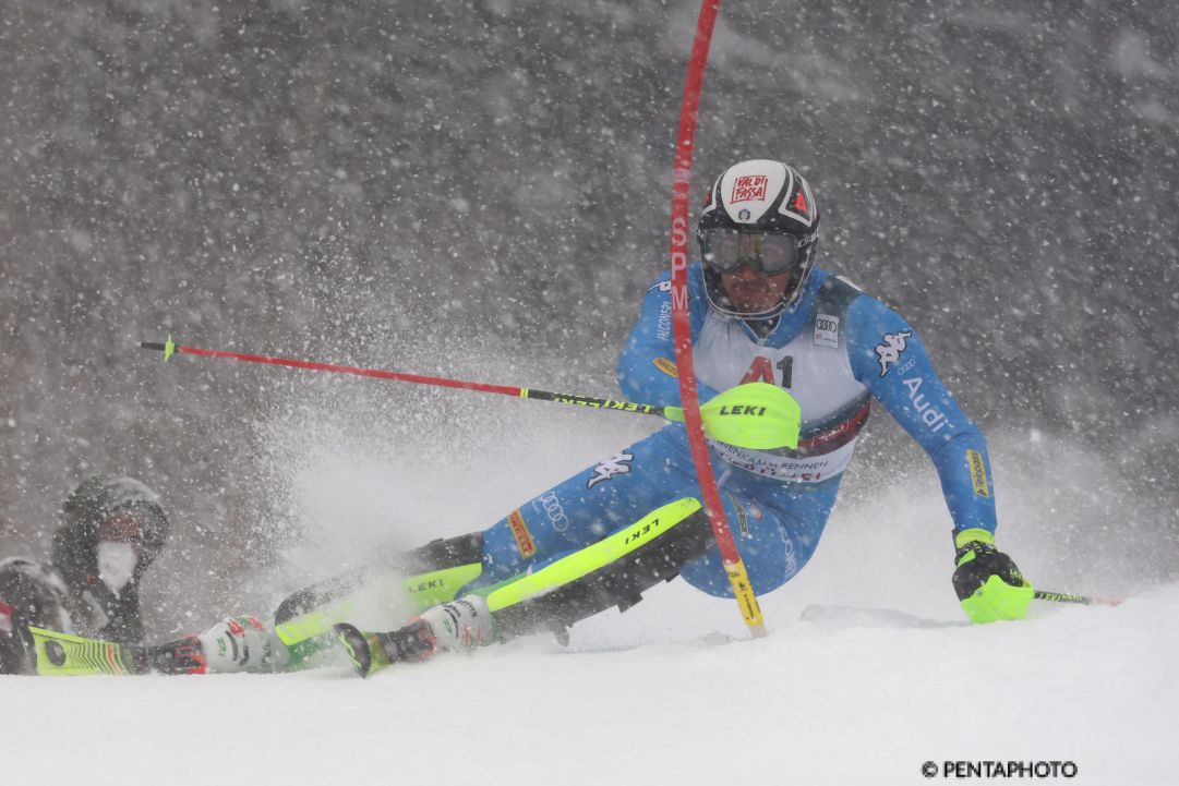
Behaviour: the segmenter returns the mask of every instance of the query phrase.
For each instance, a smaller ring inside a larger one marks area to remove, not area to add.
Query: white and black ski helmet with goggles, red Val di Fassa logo
[[[818,244],[818,205],[810,184],[792,166],[766,159],[742,161],[709,190],[696,239],[712,308],[731,317],[766,319],[792,305],[806,286]],[[729,299],[720,276],[745,265],[771,276],[790,273],[773,308],[749,313]]]

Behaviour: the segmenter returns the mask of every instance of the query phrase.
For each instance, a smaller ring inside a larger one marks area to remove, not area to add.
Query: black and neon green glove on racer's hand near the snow
[[[995,548],[986,529],[964,529],[954,536],[954,592],[971,622],[1019,620],[1032,603],[1032,583],[1012,557]]]

